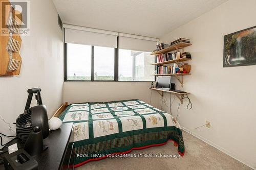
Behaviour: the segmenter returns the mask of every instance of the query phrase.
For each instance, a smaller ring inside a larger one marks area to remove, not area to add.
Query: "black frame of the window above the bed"
[[[155,82],[154,81],[119,81],[118,80],[118,36],[117,36],[117,48],[114,48],[114,80],[94,80],[94,45],[92,46],[92,61],[91,61],[91,80],[68,80],[68,43],[64,42],[64,82]],[[157,58],[155,56],[155,62],[157,62]],[[155,66],[156,69],[156,66]]]

